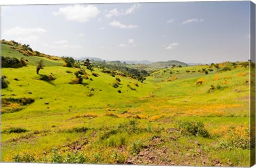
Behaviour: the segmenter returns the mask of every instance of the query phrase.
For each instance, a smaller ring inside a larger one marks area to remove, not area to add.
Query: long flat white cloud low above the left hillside
[[[18,36],[28,36],[33,33],[45,33],[46,30],[43,28],[21,28],[20,26],[13,27],[10,29],[5,29],[4,35],[18,35]]]

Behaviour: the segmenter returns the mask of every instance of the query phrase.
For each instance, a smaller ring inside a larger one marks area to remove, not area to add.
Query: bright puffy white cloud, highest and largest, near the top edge
[[[67,20],[73,20],[77,22],[87,22],[92,18],[97,17],[100,10],[94,5],[72,5],[66,7],[60,7],[58,12],[53,12],[54,15],[62,15]]]

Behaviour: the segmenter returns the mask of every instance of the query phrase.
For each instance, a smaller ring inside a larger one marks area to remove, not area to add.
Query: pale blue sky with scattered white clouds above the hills
[[[250,2],[1,6],[1,39],[103,60],[247,61]]]

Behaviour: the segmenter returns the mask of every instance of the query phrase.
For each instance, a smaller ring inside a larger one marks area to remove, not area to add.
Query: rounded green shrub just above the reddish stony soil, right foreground
[[[179,121],[177,122],[177,129],[183,135],[194,135],[208,138],[210,134],[205,130],[204,124],[202,122],[193,121]]]

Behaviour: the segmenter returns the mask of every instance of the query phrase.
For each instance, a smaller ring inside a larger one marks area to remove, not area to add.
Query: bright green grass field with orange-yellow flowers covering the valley
[[[5,44],[2,55],[24,57]],[[26,67],[2,68],[10,82],[1,89],[2,162],[250,165],[250,79],[242,62],[166,68],[143,83],[94,68],[83,84],[69,84],[77,68],[45,59],[37,75],[42,58],[25,58]],[[219,71],[225,67],[231,70]],[[40,80],[50,74],[54,81]],[[34,102],[22,104],[28,98]]]

